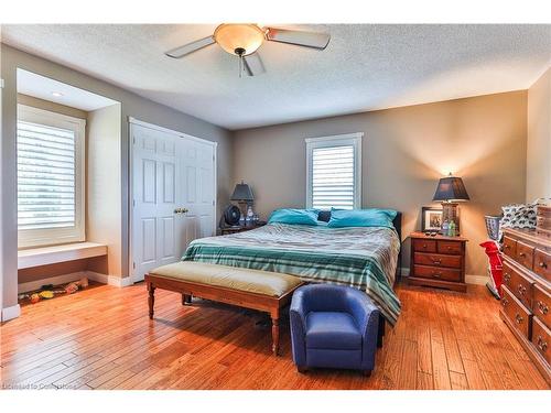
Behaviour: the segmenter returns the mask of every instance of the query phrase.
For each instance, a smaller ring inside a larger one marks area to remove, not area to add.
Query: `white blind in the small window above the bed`
[[[312,207],[354,208],[354,146],[317,148],[312,153]]]

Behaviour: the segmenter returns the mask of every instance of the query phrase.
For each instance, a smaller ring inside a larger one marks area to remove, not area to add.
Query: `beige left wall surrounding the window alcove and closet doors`
[[[18,51],[0,44],[1,77],[6,85],[2,89],[2,139],[0,145],[1,175],[1,209],[0,209],[0,272],[3,275],[2,306],[17,304],[18,270],[17,270],[17,171],[15,171],[15,128],[17,128],[17,68],[23,68],[42,76],[60,80],[82,89],[108,97],[121,102],[121,141],[120,165],[121,188],[119,222],[122,235],[121,268],[128,275],[128,230],[129,230],[129,137],[128,117],[134,117],[145,122],[163,126],[197,138],[218,142],[218,205],[224,206],[229,197],[233,182],[231,167],[231,133],[215,124],[182,113],[166,106],[144,99],[128,90],[99,80],[68,67],[55,64],[44,58]]]

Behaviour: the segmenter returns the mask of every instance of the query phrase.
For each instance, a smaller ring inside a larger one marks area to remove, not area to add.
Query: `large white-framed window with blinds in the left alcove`
[[[84,240],[83,135],[80,119],[19,107],[20,247]]]

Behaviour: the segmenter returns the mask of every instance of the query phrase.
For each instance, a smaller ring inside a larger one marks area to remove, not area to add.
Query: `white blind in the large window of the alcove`
[[[75,226],[75,132],[18,122],[18,229]]]

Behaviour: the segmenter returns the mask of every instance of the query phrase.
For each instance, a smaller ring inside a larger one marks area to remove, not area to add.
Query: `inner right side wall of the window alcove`
[[[122,276],[120,104],[88,112],[86,240],[107,246],[108,274]]]

